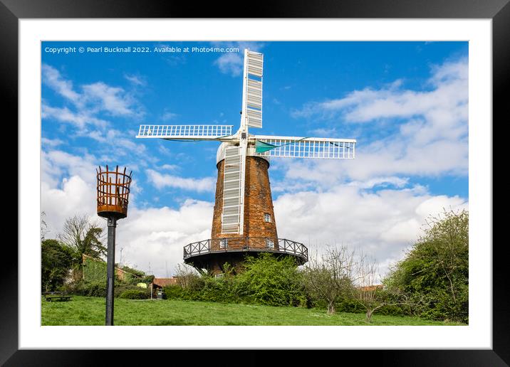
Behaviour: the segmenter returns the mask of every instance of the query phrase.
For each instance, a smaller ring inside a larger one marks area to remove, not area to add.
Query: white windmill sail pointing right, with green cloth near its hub
[[[354,159],[355,139],[253,135],[255,155],[288,158]]]

